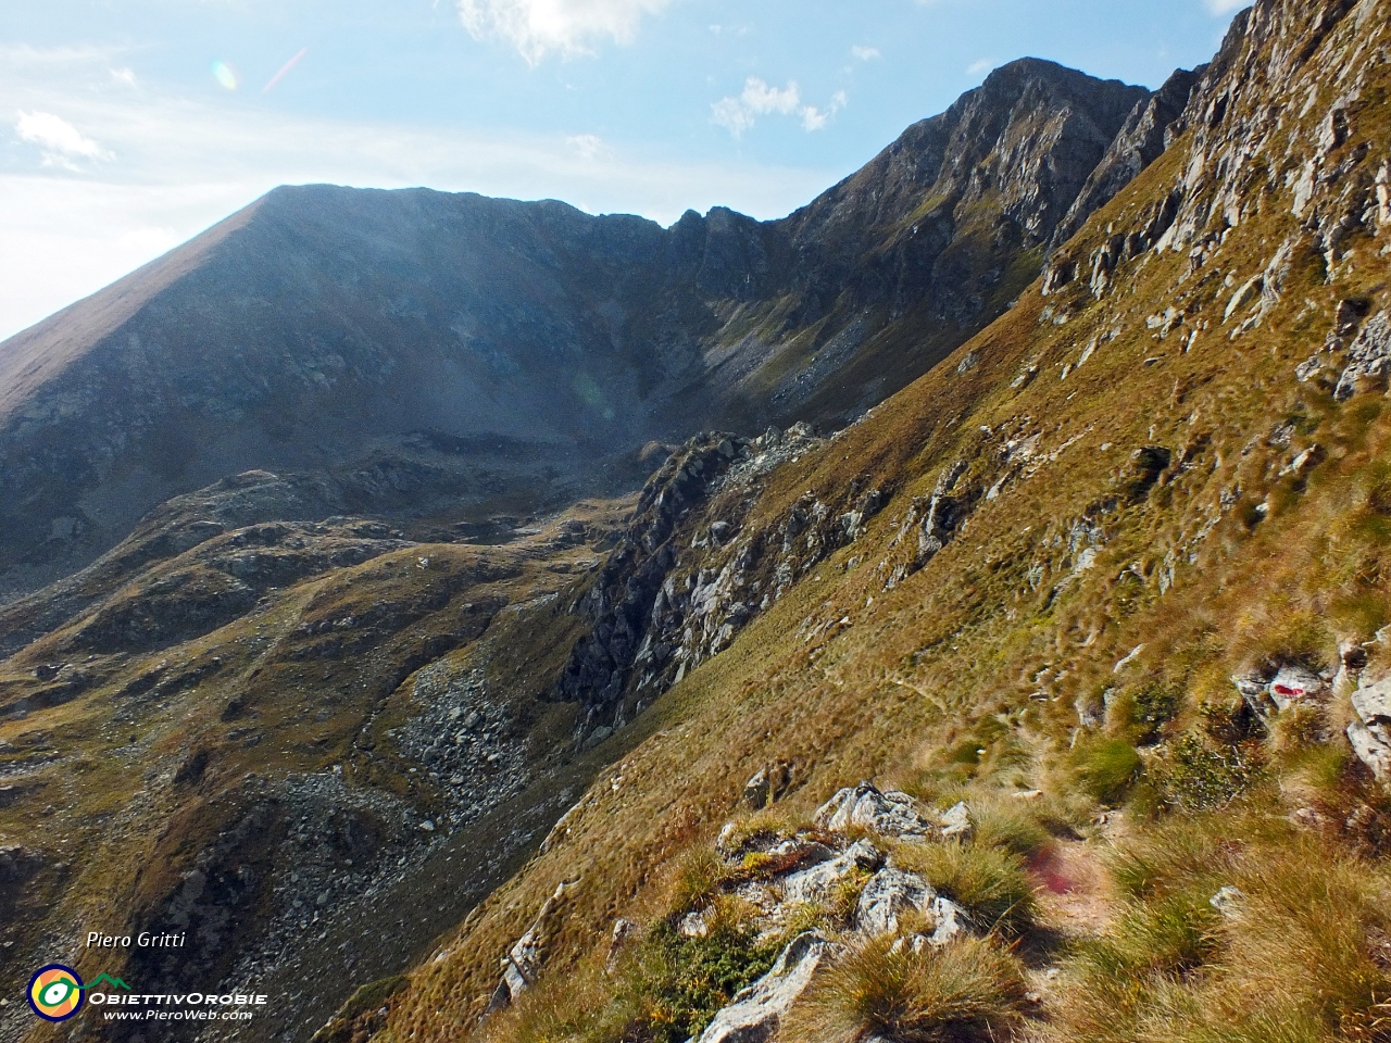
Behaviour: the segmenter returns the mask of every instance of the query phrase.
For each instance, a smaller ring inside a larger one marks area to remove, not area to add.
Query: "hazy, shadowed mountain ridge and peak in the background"
[[[651,439],[843,423],[1008,306],[1150,97],[1018,61],[771,223],[275,189],[0,345],[0,598],[243,470],[483,517],[632,484]]]

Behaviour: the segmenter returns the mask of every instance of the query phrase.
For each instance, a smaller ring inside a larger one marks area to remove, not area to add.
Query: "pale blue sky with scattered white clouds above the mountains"
[[[1157,86],[1238,7],[11,0],[0,338],[287,182],[779,217],[999,64]]]

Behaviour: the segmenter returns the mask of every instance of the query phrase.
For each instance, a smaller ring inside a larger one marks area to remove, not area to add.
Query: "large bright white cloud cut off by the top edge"
[[[669,0],[458,0],[476,39],[502,39],[536,65],[548,54],[588,54],[595,40],[632,43],[644,14]]]

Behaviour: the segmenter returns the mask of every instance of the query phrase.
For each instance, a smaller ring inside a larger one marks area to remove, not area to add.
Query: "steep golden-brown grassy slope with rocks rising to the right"
[[[1388,47],[1384,3],[1262,0],[1182,135],[1017,307],[737,516],[718,496],[687,515],[672,590],[744,555],[766,605],[687,645],[694,669],[657,679],[675,687],[641,741],[526,871],[323,1037],[689,1029],[696,993],[657,954],[719,893],[700,866],[722,823],[786,830],[871,777],[975,811],[956,866],[924,869],[939,889],[988,908],[972,866],[1035,889],[989,943],[1021,937],[1031,996],[997,997],[1017,1037],[1384,1039],[1391,801],[1344,726],[1388,666]],[[843,537],[808,524],[871,488]],[[1249,694],[1280,668],[1326,697]],[[779,761],[787,794],[748,820],[746,780]],[[480,1022],[561,883],[536,985]],[[658,969],[605,971],[616,918]],[[765,964],[711,939],[727,998]],[[836,979],[811,997],[786,1039],[883,1026],[832,1030]]]

